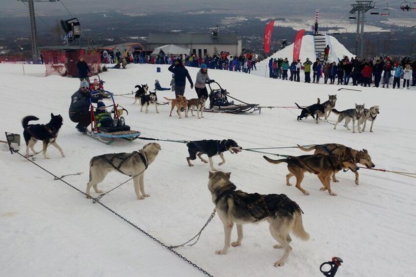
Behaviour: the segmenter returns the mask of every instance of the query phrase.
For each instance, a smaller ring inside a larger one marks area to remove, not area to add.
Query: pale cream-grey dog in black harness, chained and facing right
[[[157,143],[148,143],[140,151],[131,153],[113,153],[95,156],[90,160],[90,179],[87,183],[85,193],[91,197],[91,187],[96,193],[102,193],[97,188],[107,173],[118,171],[124,175],[132,176],[134,192],[139,200],[149,197],[144,191],[144,173],[147,167],[156,159],[157,153],[161,150]]]

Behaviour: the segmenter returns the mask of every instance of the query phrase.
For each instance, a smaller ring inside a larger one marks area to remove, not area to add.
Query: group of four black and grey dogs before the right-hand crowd
[[[309,116],[312,116],[312,118],[315,120],[315,123],[318,124],[318,120],[321,116],[325,117],[325,120],[328,120],[329,115],[331,112],[334,112],[338,115],[338,120],[335,123],[334,129],[337,129],[338,123],[342,122],[345,119],[344,126],[347,127],[348,130],[350,128],[348,127],[348,124],[352,121],[352,132],[355,133],[355,127],[358,127],[358,132],[361,133],[362,131],[365,131],[365,126],[367,121],[371,122],[370,126],[370,132],[373,131],[373,124],[376,120],[377,115],[380,113],[379,106],[372,106],[369,109],[364,108],[365,104],[358,105],[355,104],[355,108],[353,109],[347,109],[343,111],[338,111],[335,109],[335,103],[337,101],[337,95],[328,95],[329,99],[322,104],[320,103],[320,99],[318,98],[318,101],[316,104],[312,104],[310,106],[301,107],[297,103],[296,106],[301,109],[301,114],[297,117],[297,120],[302,120],[302,118],[308,118]],[[356,125],[357,123],[357,125]],[[364,124],[363,129],[361,129],[361,125]]]

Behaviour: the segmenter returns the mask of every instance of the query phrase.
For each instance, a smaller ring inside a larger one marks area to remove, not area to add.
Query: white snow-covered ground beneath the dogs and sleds
[[[167,66],[129,65],[126,70],[111,70],[101,75],[105,88],[113,93],[128,93],[134,85],[154,80],[167,86],[171,74]],[[61,157],[51,148],[50,160],[42,157],[36,163],[66,181],[85,190],[88,163],[103,153],[130,152],[141,149],[147,141],[116,141],[104,145],[76,131],[68,118],[71,95],[78,89],[76,78],[44,77],[43,66],[0,64],[2,131],[23,133],[21,119],[26,115],[47,123],[50,113],[61,114],[64,125],[58,143],[66,153]],[[189,69],[192,78],[197,69]],[[354,103],[366,107],[380,105],[374,132],[352,133],[339,125],[312,119],[296,121],[299,110],[262,109],[261,114],[213,114],[204,119],[169,117],[169,107],[153,107],[149,114],[139,112],[132,99],[118,97],[129,110],[127,123],[142,131],[142,136],[171,140],[236,140],[243,148],[286,147],[298,144],[342,143],[355,149],[367,149],[377,168],[414,172],[416,168],[415,123],[409,116],[416,101],[415,90],[361,88],[362,92],[337,91],[340,86],[304,84],[269,79],[228,71],[210,70],[232,96],[267,106],[292,106],[322,101],[337,94],[337,109],[352,108]],[[345,88],[345,87],[343,87]],[[352,87],[349,87],[352,88]],[[185,96],[196,94],[186,87]],[[172,92],[158,92],[158,97],[172,97]],[[332,114],[330,121],[334,122]],[[3,138],[4,139],[4,138]],[[23,140],[23,137],[22,137]],[[24,142],[23,142],[24,144]],[[162,151],[145,176],[150,198],[135,198],[132,182],[114,190],[102,199],[132,223],[143,228],[167,245],[181,244],[204,226],[214,205],[207,188],[208,165],[195,161],[187,166],[186,146],[160,142]],[[36,149],[40,150],[40,144]],[[25,151],[25,147],[22,147]],[[302,155],[296,149],[275,153]],[[245,226],[240,247],[227,255],[216,255],[224,242],[223,226],[218,216],[202,233],[193,247],[179,249],[182,255],[213,276],[322,276],[319,265],[339,256],[344,263],[337,276],[391,277],[409,276],[414,272],[416,248],[415,179],[390,173],[360,170],[360,185],[354,184],[351,172],[339,173],[333,183],[338,196],[319,191],[321,184],[314,175],[306,175],[305,196],[285,185],[286,165],[267,163],[262,154],[242,151],[226,153],[227,163],[221,170],[232,172],[238,189],[261,194],[285,193],[305,212],[308,242],[294,238],[284,267],[273,263],[282,250],[273,249],[267,224]],[[269,155],[271,156],[271,155]],[[214,161],[219,162],[218,157]],[[76,190],[35,167],[17,154],[0,151],[0,276],[202,276],[192,266],[168,252],[141,232],[132,228],[98,204],[93,204]],[[99,186],[110,190],[127,179],[110,173]],[[293,182],[293,180],[292,180]],[[94,196],[96,196],[94,194]],[[413,227],[412,227],[413,226]],[[236,238],[235,228],[233,239]]]

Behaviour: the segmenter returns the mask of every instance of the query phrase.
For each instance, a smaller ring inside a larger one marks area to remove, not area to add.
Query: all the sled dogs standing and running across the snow
[[[155,105],[157,109],[157,96],[156,92],[148,91],[147,85],[137,85],[138,90],[135,94],[135,102],[140,101],[141,110],[143,106],[146,107],[146,113],[148,113],[149,105]],[[183,96],[178,96],[176,99],[168,99],[171,101],[171,111],[177,108],[179,118],[181,118],[181,110],[185,110],[185,117],[188,116],[188,110],[190,107],[193,116],[193,107],[197,108],[198,118],[203,118],[203,110],[205,107],[206,99],[191,99],[186,100]],[[345,119],[345,126],[348,128],[348,124],[353,122],[353,132],[355,132],[355,123],[357,122],[358,130],[361,132],[361,125],[366,121],[371,122],[370,132],[372,132],[373,123],[379,114],[379,107],[373,106],[370,109],[365,109],[363,105],[357,105],[355,109],[348,109],[344,111],[338,111],[335,109],[335,103],[337,101],[336,95],[329,95],[328,101],[320,104],[320,100],[316,104],[312,104],[308,107],[302,108],[295,103],[301,111],[301,115],[298,116],[298,121],[302,118],[312,116],[316,123],[318,123],[319,116],[324,116],[325,119],[329,117],[331,112],[338,114],[337,123],[334,126],[336,129],[338,123]],[[201,112],[201,117],[199,115]],[[26,156],[29,155],[29,149],[34,151],[34,145],[38,140],[43,142],[43,155],[46,159],[46,150],[48,144],[52,144],[56,149],[61,152],[62,156],[65,156],[60,146],[56,143],[56,138],[60,127],[62,126],[62,117],[60,115],[53,115],[51,113],[51,121],[45,125],[30,125],[29,121],[39,120],[34,116],[26,116],[22,120],[24,127],[24,138],[26,141]],[[349,129],[349,128],[348,128]],[[201,140],[190,141],[186,144],[188,148],[189,156],[186,157],[188,166],[192,167],[191,160],[198,158],[203,163],[209,163],[209,176],[208,176],[208,190],[212,196],[212,202],[218,212],[219,218],[224,225],[224,247],[216,251],[217,254],[226,254],[230,245],[237,247],[241,245],[243,239],[243,224],[258,223],[260,221],[267,221],[269,223],[269,230],[271,236],[278,242],[274,245],[274,248],[282,248],[284,250],[283,256],[274,263],[274,266],[283,266],[287,257],[292,251],[290,242],[292,241],[290,233],[299,237],[302,240],[309,240],[310,236],[305,231],[302,222],[303,211],[299,205],[290,200],[285,194],[268,194],[260,195],[258,193],[245,193],[240,190],[236,190],[236,186],[230,180],[231,173],[224,173],[217,171],[214,168],[212,157],[219,155],[221,162],[219,166],[223,165],[226,161],[224,153],[230,151],[231,153],[238,153],[242,150],[242,147],[232,139],[225,140]],[[273,160],[267,156],[263,156],[268,162],[272,164],[286,163],[289,173],[286,175],[286,185],[290,186],[289,179],[291,177],[296,178],[295,187],[303,194],[309,195],[309,192],[301,187],[301,183],[304,179],[306,172],[315,174],[322,183],[321,191],[328,191],[332,196],[336,196],[331,189],[331,178],[333,182],[338,182],[336,174],[342,170],[351,170],[355,174],[355,183],[359,184],[359,174],[357,163],[364,165],[367,168],[375,167],[371,161],[371,157],[368,151],[354,150],[341,144],[331,143],[315,145],[312,147],[302,147],[298,145],[298,148],[302,151],[313,151],[313,155],[301,155],[301,156],[289,156],[285,159]],[[157,143],[149,143],[143,146],[139,151],[133,151],[131,153],[111,153],[95,156],[90,160],[89,164],[89,181],[87,183],[86,195],[91,197],[91,188],[97,194],[102,193],[98,189],[98,184],[101,183],[105,176],[111,171],[118,171],[119,173],[133,177],[134,191],[137,199],[143,200],[150,195],[145,192],[144,188],[144,173],[146,169],[152,164],[158,152],[161,151],[161,147]],[[208,156],[208,161],[202,157],[205,154]],[[237,240],[231,242],[231,232],[236,225]]]

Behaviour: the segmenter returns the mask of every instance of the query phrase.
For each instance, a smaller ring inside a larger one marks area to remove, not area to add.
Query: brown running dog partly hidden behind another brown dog
[[[373,162],[371,161],[371,157],[368,154],[368,152],[363,150],[355,150],[349,147],[346,147],[345,145],[338,144],[338,143],[328,143],[328,144],[320,144],[315,145],[312,147],[302,147],[300,145],[297,145],[299,149],[303,151],[312,151],[315,150],[313,154],[324,154],[324,155],[330,155],[330,154],[337,154],[337,155],[346,155],[347,149],[351,150],[351,155],[356,163],[360,163],[362,165],[365,165],[367,168],[375,167]],[[359,184],[359,174],[358,171],[355,173],[355,183]],[[332,176],[332,180],[334,182],[338,182],[337,178],[335,177],[335,174]]]

